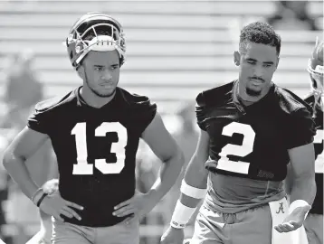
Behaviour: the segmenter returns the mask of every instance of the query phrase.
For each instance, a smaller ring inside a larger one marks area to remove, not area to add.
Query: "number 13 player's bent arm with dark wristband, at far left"
[[[8,174],[19,185],[24,194],[31,199],[42,211],[63,221],[60,214],[68,218],[80,219],[80,216],[72,208],[82,207],[62,199],[59,194],[47,195],[29,175],[24,162],[49,137],[46,134],[34,131],[28,127],[14,138],[13,142],[5,149],[4,166]],[[40,165],[42,166],[42,165]]]

